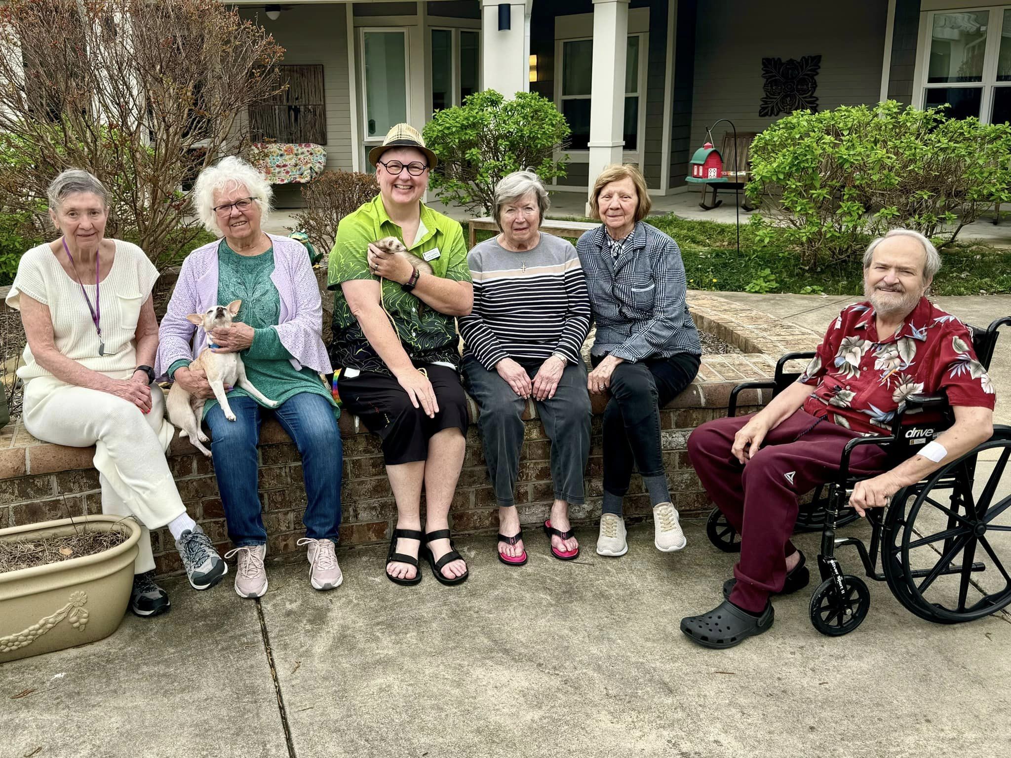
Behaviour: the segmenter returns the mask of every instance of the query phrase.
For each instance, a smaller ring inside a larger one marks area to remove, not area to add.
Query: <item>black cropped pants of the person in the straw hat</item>
[[[406,390],[393,376],[363,371],[348,378],[342,371],[337,380],[344,407],[382,440],[387,466],[428,460],[429,440],[444,429],[458,429],[467,435],[467,398],[456,369],[431,363],[418,368],[425,369],[436,393],[439,412],[435,418],[411,404]]]

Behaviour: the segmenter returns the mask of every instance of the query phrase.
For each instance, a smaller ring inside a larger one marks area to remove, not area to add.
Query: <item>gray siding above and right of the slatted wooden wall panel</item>
[[[286,64],[323,64],[327,99],[327,168],[351,171],[351,100],[348,86],[348,31],[345,6],[292,5],[276,21],[262,8],[244,8],[284,48]]]

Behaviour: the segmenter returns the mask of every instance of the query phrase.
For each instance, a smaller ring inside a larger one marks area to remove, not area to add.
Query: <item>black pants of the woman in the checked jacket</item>
[[[603,358],[592,358],[595,367]],[[699,356],[679,353],[639,363],[621,363],[611,375],[611,400],[604,409],[604,489],[624,495],[633,464],[642,476],[663,474],[660,408],[699,373]]]

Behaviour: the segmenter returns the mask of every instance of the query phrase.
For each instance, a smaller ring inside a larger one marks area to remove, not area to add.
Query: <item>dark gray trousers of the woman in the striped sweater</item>
[[[533,379],[540,366],[527,367]],[[523,447],[523,412],[527,401],[518,396],[496,371],[488,371],[471,357],[463,360],[467,390],[477,402],[488,476],[500,506],[515,505]],[[551,481],[555,499],[581,505],[585,500],[582,474],[589,457],[589,393],[586,367],[569,364],[558,382],[555,396],[535,400],[537,413],[551,441]]]

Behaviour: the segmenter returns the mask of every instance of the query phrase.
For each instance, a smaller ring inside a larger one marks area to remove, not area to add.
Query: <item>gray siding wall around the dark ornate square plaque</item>
[[[812,3],[779,0],[775,12],[764,3],[709,0],[696,24],[692,145],[705,141],[705,126],[720,118],[738,132],[761,131],[775,118],[760,118],[761,59],[820,55],[818,107],[877,103],[888,3],[849,0]],[[777,116],[782,117],[782,116]],[[729,127],[713,133],[717,147]]]

